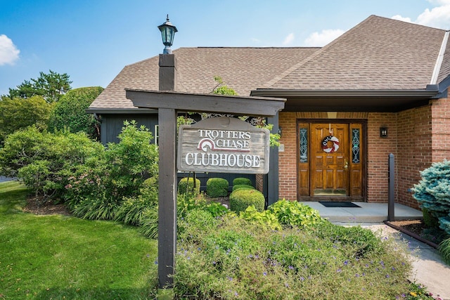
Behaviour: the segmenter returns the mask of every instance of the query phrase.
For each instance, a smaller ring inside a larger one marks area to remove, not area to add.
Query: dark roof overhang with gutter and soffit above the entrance
[[[287,98],[285,112],[399,112],[428,105],[438,93],[433,85],[418,90],[256,89],[250,95]]]

